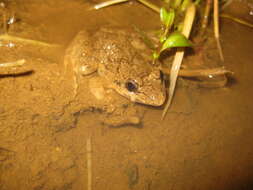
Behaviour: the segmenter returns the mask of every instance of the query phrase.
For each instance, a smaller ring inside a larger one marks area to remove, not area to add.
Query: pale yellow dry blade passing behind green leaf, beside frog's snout
[[[184,19],[184,26],[182,33],[188,38],[191,32],[192,24],[195,18],[196,13],[196,6],[194,3],[192,3],[186,10],[185,19]],[[184,49],[180,49],[176,52],[176,55],[174,57],[172,68],[171,68],[171,75],[170,75],[170,87],[169,87],[169,100],[165,105],[165,108],[162,113],[162,119],[164,119],[170,105],[172,102],[172,98],[174,95],[177,77],[179,73],[179,69],[181,67],[181,63],[183,61],[184,57]]]

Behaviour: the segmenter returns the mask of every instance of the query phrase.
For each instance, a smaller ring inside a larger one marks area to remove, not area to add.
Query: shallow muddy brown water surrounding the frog
[[[81,112],[81,103],[69,108],[71,79],[59,82],[64,49],[82,28],[148,30],[158,16],[137,3],[88,11],[91,3],[10,6],[21,20],[11,34],[61,47],[1,47],[1,62],[26,59],[33,72],[0,80],[0,189],[87,189],[88,137],[92,189],[250,189],[253,30],[222,20],[224,64],[235,72],[228,86],[179,85],[164,121],[161,109],[139,105],[142,127],[111,128],[98,122],[101,113]]]

